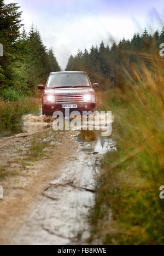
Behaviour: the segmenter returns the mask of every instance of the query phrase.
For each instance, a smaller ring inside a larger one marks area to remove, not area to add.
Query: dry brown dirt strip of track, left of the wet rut
[[[1,169],[13,173],[3,181],[4,199],[0,200],[0,243],[11,241],[13,232],[24,223],[36,201],[42,198],[49,181],[57,176],[62,165],[75,158],[78,143],[72,132],[60,132],[54,149],[48,149],[49,158],[43,156],[31,166],[22,166],[20,159],[27,153],[34,133],[0,139]],[[22,150],[22,151],[21,151]]]

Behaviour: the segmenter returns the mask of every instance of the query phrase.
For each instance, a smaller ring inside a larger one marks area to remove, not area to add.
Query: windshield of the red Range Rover
[[[89,79],[83,74],[51,74],[48,80],[48,88],[90,86]]]

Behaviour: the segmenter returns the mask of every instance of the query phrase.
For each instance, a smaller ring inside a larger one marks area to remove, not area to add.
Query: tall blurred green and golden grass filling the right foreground
[[[91,222],[92,239],[106,245],[164,245],[164,60],[147,61],[121,67],[104,104],[115,114],[118,152],[103,159]]]

